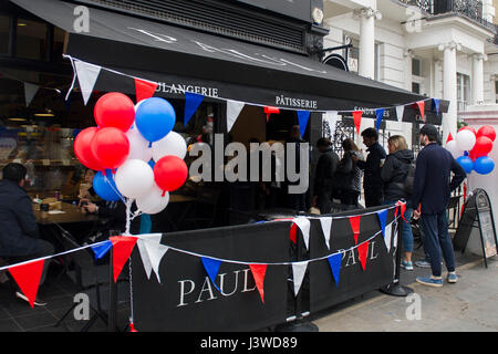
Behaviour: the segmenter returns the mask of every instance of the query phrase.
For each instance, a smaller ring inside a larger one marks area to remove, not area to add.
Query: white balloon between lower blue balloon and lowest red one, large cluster
[[[117,168],[114,180],[123,196],[137,199],[154,186],[154,171],[142,159],[128,159]]]

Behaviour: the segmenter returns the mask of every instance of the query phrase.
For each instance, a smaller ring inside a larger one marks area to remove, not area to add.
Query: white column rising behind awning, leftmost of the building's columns
[[[382,19],[380,11],[372,8],[355,10],[355,19],[360,19],[360,58],[359,74],[374,79],[375,76],[375,19]]]

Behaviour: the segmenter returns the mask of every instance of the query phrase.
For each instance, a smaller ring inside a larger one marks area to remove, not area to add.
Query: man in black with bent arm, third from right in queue
[[[352,159],[365,173],[363,189],[365,192],[365,206],[369,208],[380,206],[383,201],[381,168],[386,154],[378,144],[378,133],[375,128],[364,129],[362,137],[363,144],[367,147],[369,156],[366,160],[362,160],[357,156],[352,156]]]

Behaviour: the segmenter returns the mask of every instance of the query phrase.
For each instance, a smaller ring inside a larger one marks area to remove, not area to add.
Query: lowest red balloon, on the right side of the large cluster
[[[185,184],[187,176],[187,165],[177,156],[164,156],[154,165],[154,180],[163,190],[178,189]]]

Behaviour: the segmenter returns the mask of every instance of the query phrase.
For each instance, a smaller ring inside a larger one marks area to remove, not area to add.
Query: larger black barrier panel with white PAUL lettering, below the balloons
[[[291,222],[165,233],[162,243],[207,257],[242,262],[288,262]],[[268,266],[264,304],[247,264],[222,262],[210,282],[201,259],[169,249],[159,274],[133,260],[134,320],[139,331],[252,331],[286,322],[287,266]]]

